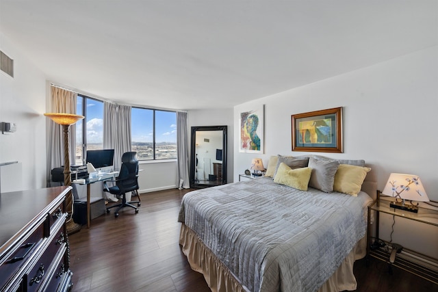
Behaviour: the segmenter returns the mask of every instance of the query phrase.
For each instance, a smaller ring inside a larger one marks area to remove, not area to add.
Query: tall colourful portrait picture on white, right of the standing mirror
[[[263,154],[264,105],[240,113],[239,152]]]

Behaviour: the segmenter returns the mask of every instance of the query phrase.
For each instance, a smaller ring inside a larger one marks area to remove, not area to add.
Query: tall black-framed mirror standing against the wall
[[[190,187],[227,183],[227,126],[192,127]]]

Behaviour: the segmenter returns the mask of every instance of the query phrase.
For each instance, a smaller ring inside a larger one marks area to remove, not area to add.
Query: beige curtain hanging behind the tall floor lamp
[[[64,90],[55,86],[50,87],[51,109],[53,113],[76,114],[77,93]],[[62,137],[62,126],[49,120],[49,133],[47,142],[47,187],[50,187],[51,170],[64,165],[64,140]],[[73,135],[71,135],[73,133]],[[76,159],[76,133],[75,125],[69,128],[69,159],[70,165],[75,164]]]

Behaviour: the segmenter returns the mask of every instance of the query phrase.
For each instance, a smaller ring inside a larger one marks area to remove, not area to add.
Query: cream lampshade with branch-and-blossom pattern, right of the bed
[[[428,202],[429,198],[424,191],[420,178],[414,174],[391,174],[382,194],[397,197],[403,200]]]

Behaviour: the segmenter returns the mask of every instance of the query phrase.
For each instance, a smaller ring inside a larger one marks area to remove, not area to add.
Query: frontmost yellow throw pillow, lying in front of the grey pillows
[[[289,166],[282,162],[276,171],[274,183],[279,183],[281,185],[293,187],[294,189],[307,191],[311,174],[311,168],[296,168],[295,170],[292,170],[289,168]]]

